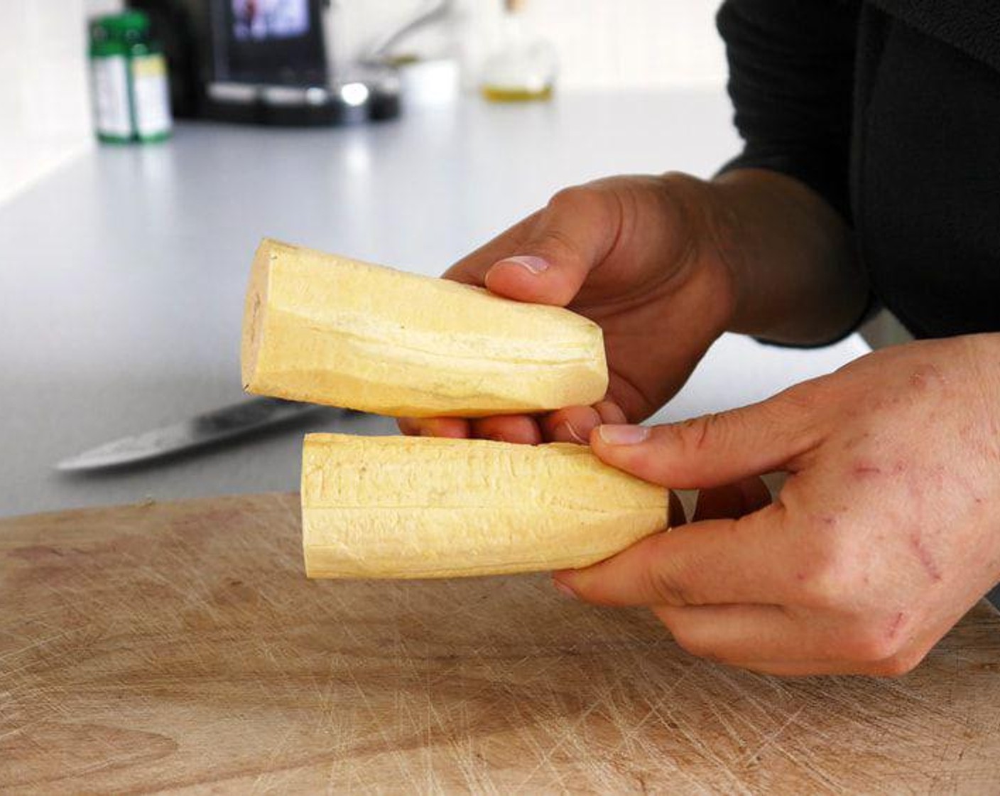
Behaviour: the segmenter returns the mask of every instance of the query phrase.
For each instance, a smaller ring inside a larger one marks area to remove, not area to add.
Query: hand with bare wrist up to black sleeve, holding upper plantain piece
[[[843,219],[802,183],[762,169],[562,190],[445,276],[569,306],[604,329],[610,384],[595,407],[399,424],[406,434],[518,443],[582,443],[598,424],[643,420],[724,330],[830,340],[857,321],[868,291]]]

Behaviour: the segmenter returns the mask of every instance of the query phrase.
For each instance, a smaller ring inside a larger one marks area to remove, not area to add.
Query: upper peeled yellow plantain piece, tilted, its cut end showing
[[[395,417],[479,417],[594,404],[608,386],[600,326],[276,240],[244,308],[244,387]]]

